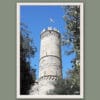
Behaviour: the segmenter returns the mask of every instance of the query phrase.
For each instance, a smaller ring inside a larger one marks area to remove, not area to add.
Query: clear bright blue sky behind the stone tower
[[[39,59],[40,59],[40,33],[47,27],[57,28],[60,34],[66,32],[65,22],[63,19],[64,10],[61,6],[32,6],[23,5],[20,7],[20,22],[28,25],[28,30],[31,31],[30,37],[34,41],[37,48],[34,58],[31,59],[31,66],[36,69],[36,78],[39,75]],[[68,47],[61,47],[62,55],[62,74],[63,78],[67,76],[66,71],[72,68],[71,60],[74,54],[67,56],[65,50]]]

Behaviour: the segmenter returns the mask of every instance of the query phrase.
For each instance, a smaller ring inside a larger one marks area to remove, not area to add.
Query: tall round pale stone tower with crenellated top
[[[60,33],[48,27],[41,32],[39,95],[52,91],[58,77],[62,78]]]

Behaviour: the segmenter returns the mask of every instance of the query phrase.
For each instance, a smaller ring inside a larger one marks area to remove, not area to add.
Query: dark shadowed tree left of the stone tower
[[[28,94],[35,82],[35,69],[30,66],[30,58],[34,57],[36,48],[24,23],[20,24],[20,94]]]

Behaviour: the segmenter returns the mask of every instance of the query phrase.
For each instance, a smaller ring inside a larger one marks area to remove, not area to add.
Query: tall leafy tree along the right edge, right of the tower
[[[66,33],[62,44],[64,46],[71,45],[72,48],[66,51],[67,55],[75,54],[75,58],[71,61],[72,69],[67,72],[67,87],[69,94],[80,93],[80,6],[65,6],[64,7],[66,22]]]

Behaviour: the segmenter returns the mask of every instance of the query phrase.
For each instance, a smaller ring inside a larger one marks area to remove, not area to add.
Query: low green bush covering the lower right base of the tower
[[[54,86],[55,89],[49,91],[48,95],[79,95],[79,77],[77,74],[74,74],[72,70],[70,72],[70,77],[66,79],[58,79],[56,80]]]

